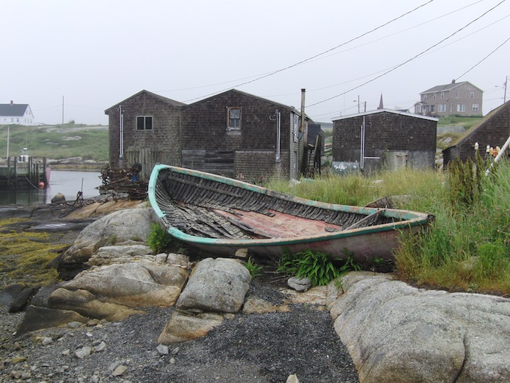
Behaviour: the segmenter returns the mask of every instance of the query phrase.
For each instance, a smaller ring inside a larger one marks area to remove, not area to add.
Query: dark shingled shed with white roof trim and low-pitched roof
[[[333,161],[361,170],[433,168],[438,118],[378,109],[333,119]]]

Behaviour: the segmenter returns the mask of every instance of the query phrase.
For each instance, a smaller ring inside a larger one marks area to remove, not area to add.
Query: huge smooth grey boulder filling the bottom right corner
[[[510,300],[352,272],[331,305],[360,382],[510,382]]]

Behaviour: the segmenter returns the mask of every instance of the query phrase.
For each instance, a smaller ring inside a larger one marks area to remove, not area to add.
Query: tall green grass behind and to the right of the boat
[[[363,206],[399,196],[399,208],[432,213],[422,235],[402,236],[395,252],[397,276],[423,287],[510,294],[510,165],[485,176],[483,162],[445,172],[402,169],[371,176],[324,175],[294,187],[268,187],[308,199]]]

